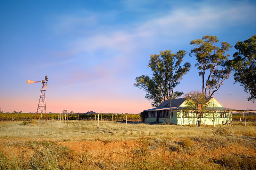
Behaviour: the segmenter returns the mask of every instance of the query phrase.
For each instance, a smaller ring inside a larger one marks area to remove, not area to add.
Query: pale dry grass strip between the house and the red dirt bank
[[[33,122],[33,121],[31,121]],[[24,122],[23,122],[24,124]],[[126,140],[138,139],[143,136],[166,136],[166,137],[197,137],[201,136],[256,136],[256,126],[235,126],[218,125],[216,127],[196,127],[144,124],[125,124],[102,121],[69,121],[69,125],[60,121],[48,121],[48,123],[29,123],[22,125],[22,122],[0,122],[0,140],[12,138],[49,138],[54,141],[79,141],[93,140],[95,137],[101,140]]]

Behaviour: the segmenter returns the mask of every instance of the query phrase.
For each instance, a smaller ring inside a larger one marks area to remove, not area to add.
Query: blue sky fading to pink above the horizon
[[[150,109],[135,78],[152,77],[151,54],[185,50],[191,70],[174,89],[202,89],[190,41],[215,35],[233,46],[256,34],[256,2],[236,0],[0,1],[0,108],[36,112],[48,76],[46,112]],[[220,45],[220,42],[217,45]],[[223,107],[256,110],[233,75],[215,92]]]

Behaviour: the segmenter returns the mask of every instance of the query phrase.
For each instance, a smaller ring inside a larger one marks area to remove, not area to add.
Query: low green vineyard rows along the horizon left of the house
[[[61,114],[58,113],[48,113],[47,114],[47,119],[54,119],[58,120],[58,116]],[[86,120],[86,121],[91,121],[95,120],[95,115],[89,115],[89,114],[69,114],[69,120],[77,120],[79,115],[79,120]],[[116,115],[118,115],[118,120],[125,120],[125,114],[99,114],[99,120],[108,120],[109,116],[109,121],[112,121],[112,115],[113,115],[113,120],[116,121]],[[37,119],[41,117],[41,113],[37,114]],[[64,114],[65,118],[65,114]],[[0,114],[0,120],[1,121],[28,121],[28,120],[33,120],[36,119],[36,113],[1,113]],[[42,119],[45,119],[45,114],[42,114]],[[67,115],[66,115],[67,119]],[[98,120],[98,115],[96,115],[96,120]],[[127,121],[138,121],[140,120],[140,114],[138,115],[133,115],[133,114],[127,114]]]

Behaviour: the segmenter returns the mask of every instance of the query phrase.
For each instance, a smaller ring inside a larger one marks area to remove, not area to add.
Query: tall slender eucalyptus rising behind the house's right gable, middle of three
[[[227,42],[221,42],[219,48],[216,46],[218,42],[217,36],[210,35],[205,35],[202,39],[190,42],[191,45],[194,45],[194,49],[191,50],[189,55],[196,57],[195,67],[200,70],[202,93],[206,97],[211,97],[232,73],[228,60],[230,55],[226,54],[232,46]]]

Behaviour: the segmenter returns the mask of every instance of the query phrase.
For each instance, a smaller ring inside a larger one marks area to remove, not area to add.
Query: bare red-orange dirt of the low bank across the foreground
[[[13,139],[15,142],[29,141],[31,139]],[[43,140],[42,138],[37,140]],[[50,141],[48,139],[48,141]],[[181,138],[175,139],[175,141],[181,141]],[[1,140],[0,151],[7,152],[8,154],[15,153],[17,156],[21,155],[28,158],[29,155],[34,153],[34,150],[30,147],[10,147],[5,145],[3,140]],[[150,150],[151,155],[158,157],[163,156],[166,159],[196,159],[196,158],[205,158],[205,159],[219,159],[221,156],[226,154],[239,154],[256,157],[255,148],[250,147],[247,149],[244,145],[234,146],[228,144],[226,147],[219,146],[217,148],[207,148],[202,146],[199,142],[193,142],[194,146],[190,149],[189,152],[177,153],[175,151],[171,152],[170,150],[164,150],[163,148],[158,147],[154,150]],[[139,140],[119,140],[115,142],[104,142],[104,141],[78,141],[78,142],[57,142],[58,145],[69,147],[77,153],[89,153],[91,157],[98,159],[110,159],[112,161],[122,161],[131,159],[132,152],[134,149],[140,148]],[[207,145],[207,144],[206,144]]]

